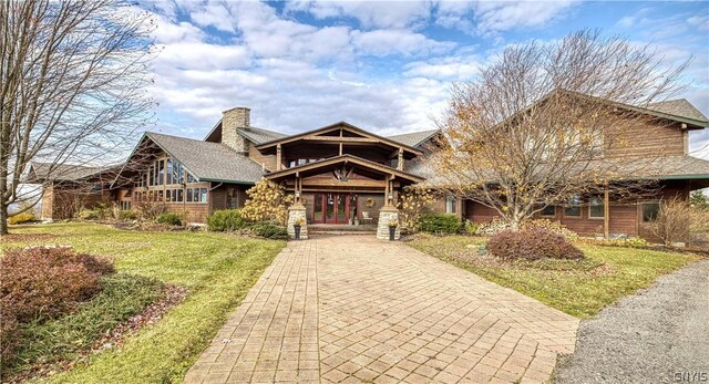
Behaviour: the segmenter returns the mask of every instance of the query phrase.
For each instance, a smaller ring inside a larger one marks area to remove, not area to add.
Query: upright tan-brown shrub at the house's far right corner
[[[692,208],[687,201],[675,197],[660,204],[655,221],[643,226],[669,247],[674,242],[686,241],[689,238],[692,214]]]

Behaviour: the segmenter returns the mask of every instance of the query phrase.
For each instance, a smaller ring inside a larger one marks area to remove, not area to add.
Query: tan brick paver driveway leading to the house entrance
[[[578,320],[368,236],[291,241],[187,383],[540,383]]]

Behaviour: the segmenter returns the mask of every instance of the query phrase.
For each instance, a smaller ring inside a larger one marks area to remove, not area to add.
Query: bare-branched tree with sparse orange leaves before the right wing
[[[637,139],[628,128],[670,124],[646,108],[678,91],[687,64],[664,69],[649,48],[599,31],[510,46],[454,84],[439,123],[451,145],[432,158],[430,183],[494,208],[513,228],[577,195],[648,193],[638,176],[661,157],[628,157]]]

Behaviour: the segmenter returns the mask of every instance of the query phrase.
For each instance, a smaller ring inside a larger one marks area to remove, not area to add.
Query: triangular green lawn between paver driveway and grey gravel
[[[417,235],[409,245],[577,318],[592,316],[619,298],[649,287],[660,274],[697,260],[682,253],[582,245],[583,261],[502,262],[477,255],[485,241],[480,237]]]

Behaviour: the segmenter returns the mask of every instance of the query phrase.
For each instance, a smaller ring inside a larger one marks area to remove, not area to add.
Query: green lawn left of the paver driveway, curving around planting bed
[[[106,256],[120,272],[188,289],[187,299],[120,349],[50,377],[56,383],[181,382],[285,241],[224,233],[124,231],[92,224],[11,228],[1,247],[72,245]],[[37,238],[29,237],[38,235]],[[41,233],[51,233],[53,237]]]

